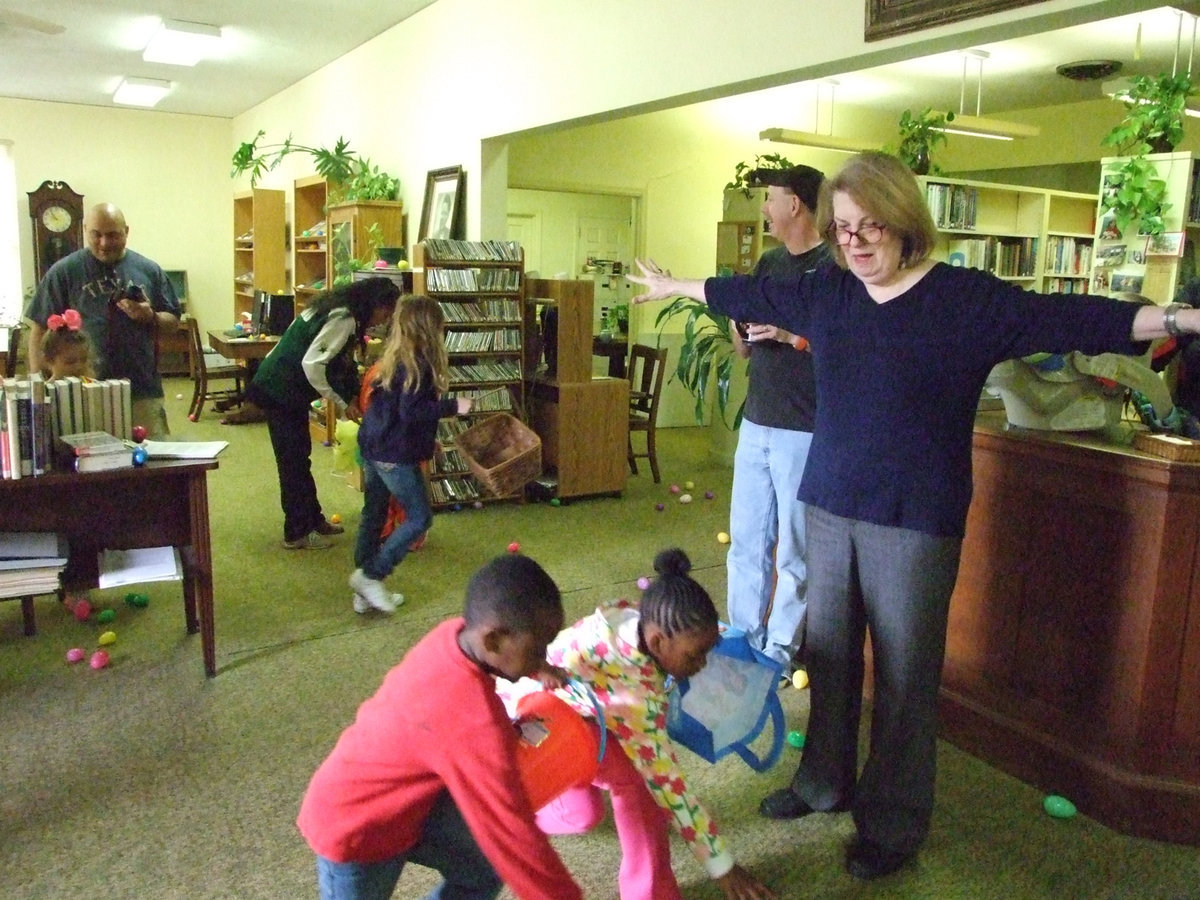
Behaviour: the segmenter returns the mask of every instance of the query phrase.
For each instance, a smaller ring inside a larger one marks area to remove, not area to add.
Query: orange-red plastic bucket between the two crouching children
[[[517,701],[515,724],[517,770],[535,810],[595,778],[595,732],[565,700],[550,691],[527,694]]]

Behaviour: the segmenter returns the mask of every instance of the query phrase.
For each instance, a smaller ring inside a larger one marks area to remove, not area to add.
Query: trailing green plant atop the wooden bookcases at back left
[[[308,154],[313,168],[329,182],[329,203],[355,200],[395,200],[400,196],[400,179],[380,172],[371,160],[350,150],[350,143],[340,137],[332,149],[296,144],[288,134],[278,144],[259,145],[266,132],[259,131],[253,140],[242,142],[233,154],[230,178],[250,173],[250,184],[278,166],[288,154]]]

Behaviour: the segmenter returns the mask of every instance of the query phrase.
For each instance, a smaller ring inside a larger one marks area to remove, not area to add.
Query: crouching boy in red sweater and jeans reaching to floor
[[[462,618],[436,626],[384,678],[320,764],[298,826],[323,900],[386,900],[408,862],[444,878],[431,896],[575,900],[521,786],[497,676],[536,672],[563,601],[528,557],[472,576]]]

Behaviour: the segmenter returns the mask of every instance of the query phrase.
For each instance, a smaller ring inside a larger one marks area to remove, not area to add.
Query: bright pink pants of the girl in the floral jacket
[[[598,730],[594,722],[592,726]],[[605,817],[604,794],[620,841],[620,900],[683,900],[671,871],[670,814],[650,797],[641,773],[608,732],[608,744],[590,785],[572,787],[538,810],[546,834],[583,834]]]

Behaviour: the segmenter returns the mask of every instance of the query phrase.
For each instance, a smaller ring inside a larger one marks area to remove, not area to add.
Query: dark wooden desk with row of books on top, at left
[[[58,532],[71,545],[65,587],[91,588],[102,550],[174,546],[184,562],[184,624],[200,632],[204,673],[216,674],[208,472],[216,460],[0,480],[4,527]]]

